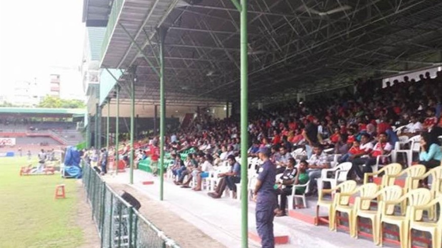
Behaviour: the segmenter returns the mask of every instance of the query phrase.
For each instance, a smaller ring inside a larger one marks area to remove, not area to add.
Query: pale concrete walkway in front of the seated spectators
[[[110,183],[127,184],[129,173],[118,173],[117,176],[104,178]],[[143,181],[153,181],[154,184],[143,185]],[[159,179],[148,173],[135,170],[134,184],[131,186],[151,199],[159,199]],[[165,179],[162,205],[226,247],[240,247],[240,201],[228,197],[213,199],[207,195],[207,192],[180,188],[171,180]],[[255,230],[255,203],[252,201],[249,201],[249,230]],[[332,232],[326,226],[314,226],[288,216],[275,218],[274,234],[289,235],[289,244],[277,245],[281,248],[377,247],[369,239],[354,239],[347,233]],[[260,247],[260,245],[249,239],[249,247]]]

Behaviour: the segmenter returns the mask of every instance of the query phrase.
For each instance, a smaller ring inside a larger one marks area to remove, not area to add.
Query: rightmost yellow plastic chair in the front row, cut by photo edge
[[[412,229],[429,232],[431,234],[431,247],[442,247],[442,214],[439,215],[439,220],[436,222],[423,222],[418,221],[419,215],[423,210],[435,209],[435,206],[439,204],[439,208],[442,209],[442,196],[433,199],[426,205],[411,206],[410,211],[410,231],[408,239],[408,247],[412,246]]]

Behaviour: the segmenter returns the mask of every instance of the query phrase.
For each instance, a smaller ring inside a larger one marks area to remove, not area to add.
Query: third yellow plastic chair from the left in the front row
[[[367,193],[367,194],[364,194]],[[358,238],[358,217],[370,219],[372,222],[372,234],[373,242],[379,244],[379,222],[381,218],[380,208],[378,205],[377,210],[371,210],[371,202],[374,199],[381,198],[383,200],[397,200],[403,195],[403,189],[400,186],[392,185],[387,186],[373,194],[369,194],[369,191],[361,192],[360,196],[356,197],[354,201],[354,214],[353,214],[353,236]],[[390,212],[394,210],[391,209]]]

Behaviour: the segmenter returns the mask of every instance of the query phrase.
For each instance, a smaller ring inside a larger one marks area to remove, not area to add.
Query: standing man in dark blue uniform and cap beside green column
[[[276,167],[269,159],[268,148],[262,147],[258,151],[259,158],[263,161],[255,185],[253,198],[256,201],[256,230],[261,238],[263,248],[275,246],[273,236],[274,210],[277,208],[276,191],[274,189]]]

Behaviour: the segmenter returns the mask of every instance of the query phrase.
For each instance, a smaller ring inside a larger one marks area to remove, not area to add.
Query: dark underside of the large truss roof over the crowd
[[[137,100],[158,98],[159,78],[138,47],[158,69],[156,28],[165,27],[167,100],[239,101],[239,14],[231,1],[112,3],[101,66],[136,67]],[[440,0],[250,0],[250,100],[438,65],[440,13]],[[120,79],[127,88],[127,76]]]

